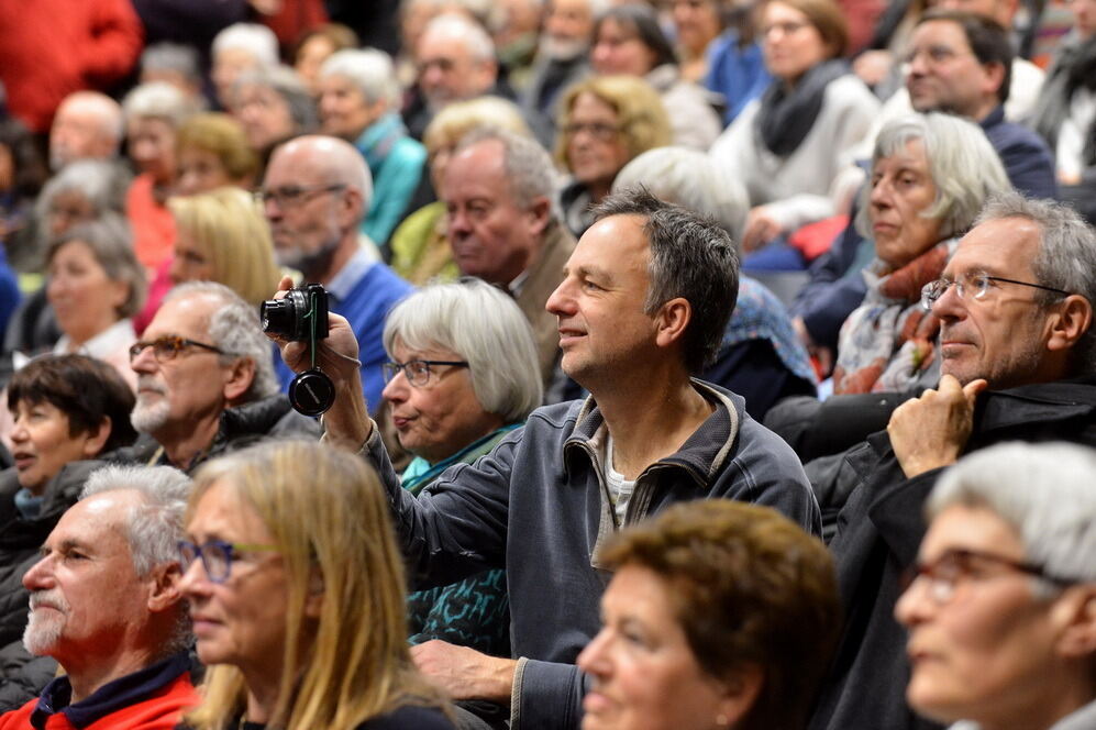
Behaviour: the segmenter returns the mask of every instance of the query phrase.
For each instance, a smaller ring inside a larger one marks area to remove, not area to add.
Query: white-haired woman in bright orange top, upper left
[[[125,193],[137,261],[155,272],[171,255],[175,224],[166,201],[175,181],[175,135],[195,112],[191,99],[166,81],[142,84],[122,102],[130,159],[137,176]]]

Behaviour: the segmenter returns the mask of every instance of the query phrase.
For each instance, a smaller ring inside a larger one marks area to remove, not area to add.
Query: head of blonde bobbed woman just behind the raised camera
[[[258,306],[278,286],[270,229],[240,188],[173,198],[177,237],[171,280],[218,281]]]

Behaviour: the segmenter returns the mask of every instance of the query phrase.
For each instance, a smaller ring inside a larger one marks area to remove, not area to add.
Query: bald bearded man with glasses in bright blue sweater
[[[365,161],[344,140],[297,137],[270,156],[262,196],[278,263],[328,290],[331,311],[345,317],[357,336],[366,399],[379,403],[388,360],[380,336],[385,314],[411,285],[359,233],[373,198]],[[279,375],[284,384],[292,378],[284,365]]]

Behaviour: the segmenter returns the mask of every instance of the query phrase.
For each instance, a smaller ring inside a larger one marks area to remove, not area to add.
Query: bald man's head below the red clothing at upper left
[[[98,91],[65,97],[49,130],[49,165],[60,169],[77,159],[118,155],[123,133],[122,107]]]

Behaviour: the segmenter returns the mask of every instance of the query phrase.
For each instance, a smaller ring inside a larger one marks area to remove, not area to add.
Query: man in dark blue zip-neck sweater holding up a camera
[[[591,397],[533,411],[524,429],[417,498],[401,488],[356,395],[358,369],[345,360],[356,343],[344,320],[332,316],[324,344],[324,368],[348,394],[324,416],[325,438],[361,450],[380,472],[412,585],[507,569],[511,655],[521,659],[435,641],[416,649],[417,664],[455,699],[510,704],[511,719],[533,726],[579,717],[585,684],[572,663],[597,632],[597,556],[611,532],[702,497],[772,506],[819,530],[787,444],[740,397],[689,379],[715,357],[733,309],[730,236],[643,192],[609,198],[598,217],[547,302],[563,369]],[[283,356],[308,367],[300,343],[284,343]]]

